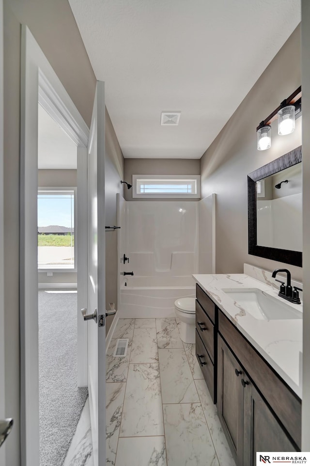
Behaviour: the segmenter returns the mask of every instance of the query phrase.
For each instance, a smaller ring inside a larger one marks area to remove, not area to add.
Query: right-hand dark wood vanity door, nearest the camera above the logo
[[[257,451],[296,451],[260,393],[246,377],[245,382],[244,465],[256,465]]]

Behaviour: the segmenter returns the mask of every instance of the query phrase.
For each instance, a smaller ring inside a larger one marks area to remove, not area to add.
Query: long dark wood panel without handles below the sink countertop
[[[218,331],[230,346],[249,377],[291,435],[301,445],[301,401],[227,317],[218,311]]]

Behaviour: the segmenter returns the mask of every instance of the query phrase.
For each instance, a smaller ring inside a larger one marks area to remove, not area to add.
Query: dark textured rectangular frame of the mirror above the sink
[[[257,244],[256,182],[302,161],[302,146],[248,174],[248,253],[302,267],[302,252],[267,248]]]

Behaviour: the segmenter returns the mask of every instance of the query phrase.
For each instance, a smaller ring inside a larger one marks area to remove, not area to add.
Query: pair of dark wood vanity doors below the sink
[[[233,352],[218,337],[217,415],[237,466],[255,466],[257,451],[296,451]]]

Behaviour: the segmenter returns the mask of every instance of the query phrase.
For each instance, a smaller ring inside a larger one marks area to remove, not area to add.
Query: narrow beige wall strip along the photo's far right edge
[[[310,445],[310,2],[302,0],[302,106],[303,106],[303,400],[302,451]]]

